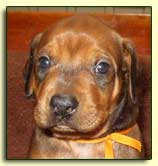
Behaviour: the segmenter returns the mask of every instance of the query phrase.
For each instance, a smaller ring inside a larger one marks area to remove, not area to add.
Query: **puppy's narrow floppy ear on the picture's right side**
[[[136,103],[136,74],[137,74],[137,60],[134,45],[129,40],[123,41],[123,61],[124,69],[126,70],[125,79],[128,82],[128,92],[133,104]]]

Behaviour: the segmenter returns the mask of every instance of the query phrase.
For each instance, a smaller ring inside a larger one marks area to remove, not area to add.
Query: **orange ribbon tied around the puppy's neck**
[[[129,130],[126,130],[126,131],[123,131],[120,133],[112,133],[112,134],[110,134],[106,137],[103,137],[103,138],[97,138],[97,139],[93,139],[93,140],[76,140],[76,142],[79,142],[79,143],[104,142],[105,143],[105,158],[106,159],[114,159],[113,141],[130,146],[130,147],[138,150],[139,152],[141,152],[141,142],[140,141],[122,134],[122,133],[127,133]]]

